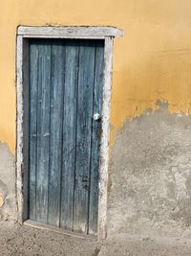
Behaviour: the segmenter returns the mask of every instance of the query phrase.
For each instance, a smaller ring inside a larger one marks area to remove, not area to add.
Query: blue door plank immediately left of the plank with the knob
[[[81,41],[77,100],[74,230],[88,230],[89,171],[91,160],[95,43]]]

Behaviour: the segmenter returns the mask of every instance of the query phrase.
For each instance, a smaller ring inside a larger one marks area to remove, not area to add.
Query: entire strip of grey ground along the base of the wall
[[[1,256],[188,256],[191,240],[120,234],[104,242],[83,240],[53,231],[0,221]]]

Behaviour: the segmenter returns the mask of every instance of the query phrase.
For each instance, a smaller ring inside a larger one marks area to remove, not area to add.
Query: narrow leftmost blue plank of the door
[[[30,43],[30,205],[29,217],[35,220],[36,206],[36,149],[37,149],[37,80],[38,47]]]

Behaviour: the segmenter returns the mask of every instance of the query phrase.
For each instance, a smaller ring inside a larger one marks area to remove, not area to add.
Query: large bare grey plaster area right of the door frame
[[[112,152],[108,232],[191,237],[191,116],[127,122]]]

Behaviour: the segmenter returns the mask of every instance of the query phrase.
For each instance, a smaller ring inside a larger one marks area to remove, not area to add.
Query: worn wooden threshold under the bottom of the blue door
[[[97,240],[97,237],[94,236],[94,235],[87,235],[87,234],[83,234],[83,233],[77,233],[77,232],[74,232],[74,231],[69,231],[69,230],[66,230],[66,229],[62,229],[60,227],[40,223],[40,222],[37,222],[37,221],[31,221],[31,220],[24,221],[24,225],[30,226],[30,227],[33,227],[33,228],[37,228],[37,229],[52,231],[52,232],[55,232],[55,233],[58,233],[58,234],[62,234],[62,235],[66,235],[66,236],[70,236],[70,237],[74,237],[74,238]]]

